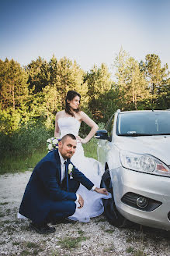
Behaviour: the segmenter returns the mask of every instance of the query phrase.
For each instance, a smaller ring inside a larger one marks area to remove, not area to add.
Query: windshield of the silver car
[[[170,134],[170,112],[126,112],[117,119],[116,134],[150,136]]]

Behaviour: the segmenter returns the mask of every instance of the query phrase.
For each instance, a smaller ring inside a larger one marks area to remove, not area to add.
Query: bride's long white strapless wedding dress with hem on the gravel
[[[60,128],[60,137],[65,134],[72,133],[78,136],[78,131],[80,128],[80,122],[75,117],[61,117],[58,119],[58,126]],[[100,181],[104,168],[102,164],[93,158],[86,158],[84,155],[84,150],[82,148],[82,143],[77,143],[77,148],[75,150],[75,155],[72,156],[71,162],[79,169],[96,187],[100,187]],[[96,217],[104,212],[102,198],[109,198],[104,194],[96,193],[92,190],[87,190],[82,184],[78,188],[77,194],[81,194],[84,199],[84,206],[78,209],[79,204],[77,203],[77,208],[74,215],[71,215],[69,219],[78,220],[79,222],[89,222],[90,218]]]

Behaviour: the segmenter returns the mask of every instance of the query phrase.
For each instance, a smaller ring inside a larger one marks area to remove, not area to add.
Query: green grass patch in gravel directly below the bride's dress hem
[[[89,237],[87,236],[66,237],[58,241],[58,244],[60,244],[63,249],[69,250],[69,249],[77,248],[82,241],[85,241],[88,239]]]

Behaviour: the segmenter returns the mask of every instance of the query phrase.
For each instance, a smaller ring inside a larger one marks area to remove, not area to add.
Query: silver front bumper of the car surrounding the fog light
[[[110,176],[116,208],[126,219],[144,226],[170,230],[170,178],[135,172],[123,167],[110,170]],[[121,201],[128,192],[160,201],[161,205],[151,212],[134,208]]]

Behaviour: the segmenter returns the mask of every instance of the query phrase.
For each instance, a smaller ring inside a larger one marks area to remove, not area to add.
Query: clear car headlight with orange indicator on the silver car
[[[127,169],[170,177],[170,169],[168,169],[168,166],[152,155],[121,151],[120,162],[123,167]]]

